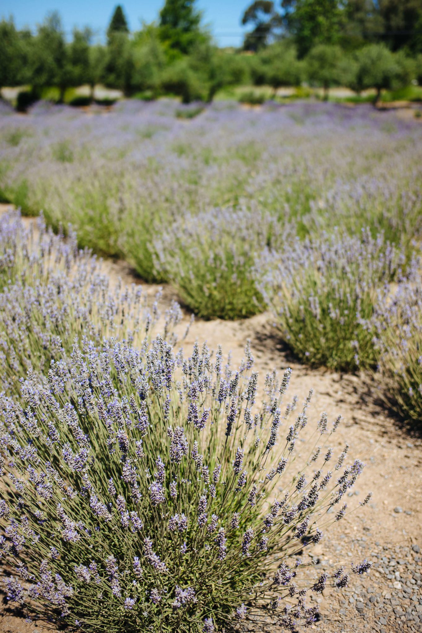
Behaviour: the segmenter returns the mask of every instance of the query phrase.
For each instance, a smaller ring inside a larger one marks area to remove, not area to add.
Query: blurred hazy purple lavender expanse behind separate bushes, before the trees
[[[54,227],[72,222],[81,246],[124,256],[145,280],[168,275],[155,243],[163,231],[215,208],[258,208],[272,223],[297,222],[301,236],[369,226],[406,251],[418,239],[417,122],[339,104],[216,103],[191,120],[178,110],[163,99],[0,115],[1,196]]]

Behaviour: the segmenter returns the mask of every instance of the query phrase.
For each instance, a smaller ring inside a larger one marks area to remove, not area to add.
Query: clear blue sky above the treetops
[[[1,0],[0,16],[13,15],[18,28],[28,26],[35,29],[47,11],[57,9],[66,32],[74,26],[90,25],[99,34],[104,34],[111,18],[114,0]],[[164,0],[125,0],[123,4],[131,30],[140,26],[140,20],[152,22],[157,18]],[[203,21],[209,23],[220,46],[238,46],[242,41],[240,20],[248,0],[198,0],[203,10]]]

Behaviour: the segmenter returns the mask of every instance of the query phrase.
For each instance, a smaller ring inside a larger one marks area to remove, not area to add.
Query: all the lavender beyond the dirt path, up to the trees
[[[303,361],[379,365],[421,420],[418,123],[334,104],[220,103],[189,122],[171,101],[119,108],[1,117],[4,195],[171,280],[204,318],[270,306]]]

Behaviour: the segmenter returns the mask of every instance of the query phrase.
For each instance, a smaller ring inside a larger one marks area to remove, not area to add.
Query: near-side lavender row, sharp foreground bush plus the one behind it
[[[184,356],[178,306],[160,321],[140,289],[111,290],[69,235],[0,219],[9,601],[87,632],[212,633],[263,606],[281,630],[311,625],[308,594],[349,582],[307,556],[354,509],[341,418],[285,401],[291,370],[260,386],[249,346],[237,369],[220,348]]]

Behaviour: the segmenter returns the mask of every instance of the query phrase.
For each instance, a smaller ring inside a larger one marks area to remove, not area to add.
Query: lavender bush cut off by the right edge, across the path
[[[380,394],[405,420],[422,422],[422,275],[414,258],[407,278],[374,316]]]

